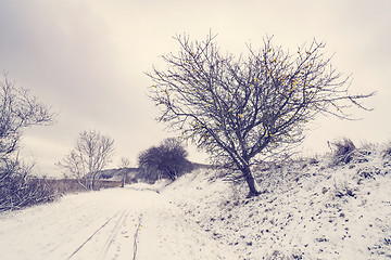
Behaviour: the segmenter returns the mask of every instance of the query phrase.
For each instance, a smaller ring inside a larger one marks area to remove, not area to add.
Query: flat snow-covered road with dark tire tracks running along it
[[[0,259],[237,259],[169,197],[134,187],[0,214]]]

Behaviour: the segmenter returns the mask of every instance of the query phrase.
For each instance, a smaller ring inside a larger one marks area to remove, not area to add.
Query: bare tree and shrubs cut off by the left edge
[[[54,113],[2,73],[0,80],[0,211],[54,199],[46,183],[29,181],[34,165],[18,157],[23,129],[52,125]]]

